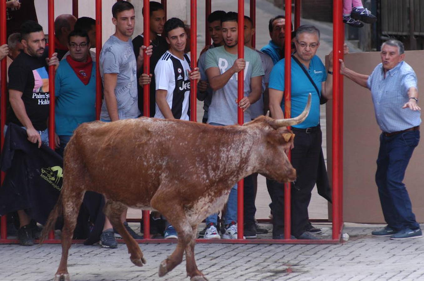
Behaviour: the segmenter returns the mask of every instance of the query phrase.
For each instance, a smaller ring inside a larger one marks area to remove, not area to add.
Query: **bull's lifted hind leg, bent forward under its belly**
[[[105,215],[109,218],[112,226],[122,235],[122,238],[127,245],[128,253],[131,254],[131,262],[137,266],[143,266],[143,264],[146,263],[143,253],[137,242],[125,229],[120,218],[125,209],[125,205],[116,201],[108,200],[105,206]]]

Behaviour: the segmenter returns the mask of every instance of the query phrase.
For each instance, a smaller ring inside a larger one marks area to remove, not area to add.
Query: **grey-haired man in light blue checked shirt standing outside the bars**
[[[346,68],[340,60],[340,73],[371,90],[375,117],[382,130],[377,158],[376,183],[386,223],[373,236],[403,240],[422,237],[412,205],[402,183],[412,152],[420,139],[421,108],[417,77],[406,62],[404,46],[388,40],[381,47],[381,61],[371,75]]]

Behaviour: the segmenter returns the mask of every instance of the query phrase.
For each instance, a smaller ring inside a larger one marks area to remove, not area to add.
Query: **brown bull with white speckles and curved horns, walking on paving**
[[[137,266],[145,264],[137,242],[120,214],[126,207],[154,209],[175,227],[178,244],[159,266],[159,276],[173,270],[186,254],[187,275],[206,280],[194,259],[198,224],[218,212],[231,187],[258,172],[279,182],[296,179],[284,149],[294,135],[282,127],[302,122],[259,116],[243,126],[210,126],[181,120],[137,118],[79,126],[65,149],[64,179],[59,201],[50,213],[42,240],[63,214],[62,257],[55,280],[70,280],[68,250],[78,209],[87,190],[108,199],[104,212],[128,247]]]

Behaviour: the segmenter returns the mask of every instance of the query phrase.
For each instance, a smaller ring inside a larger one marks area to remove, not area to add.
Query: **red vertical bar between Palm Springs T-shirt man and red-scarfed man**
[[[54,0],[48,0],[48,32],[49,32],[49,58],[55,52],[54,45]],[[49,94],[50,94],[50,115],[49,115],[49,146],[54,150],[54,79],[55,66],[49,66]],[[49,239],[54,239],[54,232],[49,232]]]

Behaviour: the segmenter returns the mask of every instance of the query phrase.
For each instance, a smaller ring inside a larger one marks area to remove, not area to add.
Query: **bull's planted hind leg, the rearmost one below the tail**
[[[62,207],[64,225],[62,229],[62,257],[60,259],[59,268],[57,269],[54,281],[69,281],[69,273],[67,269],[68,252],[71,247],[72,236],[77,224],[78,212],[84,199],[85,190],[81,190],[77,185],[72,190],[70,185],[64,181],[62,187]]]

